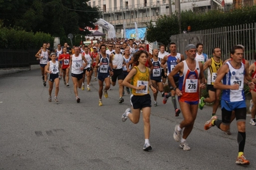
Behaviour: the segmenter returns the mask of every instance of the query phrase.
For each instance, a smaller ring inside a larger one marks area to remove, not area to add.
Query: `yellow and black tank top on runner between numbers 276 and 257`
[[[208,73],[207,73],[207,84],[214,85],[214,82],[215,82],[216,77],[217,77],[217,71],[219,70],[221,65],[222,65],[222,61],[217,63],[212,58],[212,63],[210,64],[209,69],[208,69]]]

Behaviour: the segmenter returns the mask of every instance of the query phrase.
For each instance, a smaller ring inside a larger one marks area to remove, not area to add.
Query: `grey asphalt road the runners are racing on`
[[[203,130],[212,112],[205,106],[187,139],[191,151],[183,151],[173,139],[182,115],[175,117],[171,101],[164,105],[158,95],[150,117],[153,150],[146,152],[142,118],[137,125],[121,121],[130,96],[119,104],[118,88],[112,87],[99,107],[98,82],[92,81],[90,92],[79,89],[77,104],[70,84],[67,88],[61,80],[55,103],[47,101],[40,70],[0,77],[0,169],[256,169],[256,127],[250,117],[244,153],[251,164],[237,166],[235,122],[232,135],[216,127]]]

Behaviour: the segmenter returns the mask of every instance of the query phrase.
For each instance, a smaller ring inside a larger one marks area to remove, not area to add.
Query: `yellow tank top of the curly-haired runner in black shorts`
[[[146,86],[146,87],[141,90],[132,89],[132,94],[135,96],[147,95],[149,93],[148,80],[150,76],[148,67],[146,67],[146,72],[141,72],[137,66],[134,66],[133,68],[137,70],[137,73],[133,75],[131,84],[136,87],[139,87],[139,86]]]

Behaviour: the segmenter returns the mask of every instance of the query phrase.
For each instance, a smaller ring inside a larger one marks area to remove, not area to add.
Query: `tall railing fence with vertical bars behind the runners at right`
[[[244,45],[244,58],[254,62],[253,53],[256,52],[256,23],[238,26],[205,29],[171,36],[171,42],[175,42],[177,51],[185,54],[185,46],[189,43],[203,43],[203,52],[212,57],[212,49],[219,47],[222,59],[230,58],[230,49],[234,45]]]

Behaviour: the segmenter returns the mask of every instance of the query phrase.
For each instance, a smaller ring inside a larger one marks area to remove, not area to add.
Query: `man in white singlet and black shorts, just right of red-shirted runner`
[[[83,61],[85,63],[83,63]],[[83,68],[87,66],[87,61],[85,56],[80,54],[79,47],[74,47],[74,54],[70,60],[70,66],[72,81],[74,84],[74,95],[76,95],[76,102],[80,103],[80,98],[78,97],[78,88],[81,88],[81,82],[83,81]]]

